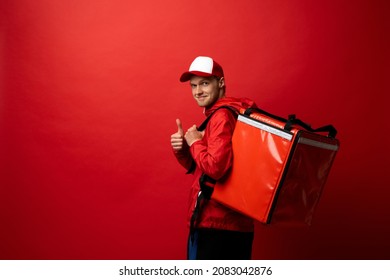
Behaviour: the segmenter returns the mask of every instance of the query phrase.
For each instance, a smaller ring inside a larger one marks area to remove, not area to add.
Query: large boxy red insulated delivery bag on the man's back
[[[336,133],[332,125],[312,129],[295,115],[242,109],[233,165],[211,198],[265,224],[310,225],[339,149]]]

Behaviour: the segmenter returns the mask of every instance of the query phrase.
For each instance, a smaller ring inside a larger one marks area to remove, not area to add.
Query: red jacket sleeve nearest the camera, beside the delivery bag
[[[218,110],[210,119],[203,139],[190,147],[196,165],[215,180],[225,175],[232,165],[235,124],[236,118],[228,109]]]

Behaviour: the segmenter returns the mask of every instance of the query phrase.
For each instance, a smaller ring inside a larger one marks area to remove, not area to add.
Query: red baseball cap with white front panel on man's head
[[[181,75],[180,82],[186,82],[194,75],[200,77],[217,76],[220,78],[224,76],[221,65],[207,56],[195,58],[190,65],[190,69]]]

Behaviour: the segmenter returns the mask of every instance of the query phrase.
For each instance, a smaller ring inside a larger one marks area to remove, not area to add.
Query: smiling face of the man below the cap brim
[[[224,95],[223,78],[193,76],[190,79],[190,85],[192,95],[200,107],[209,108]]]

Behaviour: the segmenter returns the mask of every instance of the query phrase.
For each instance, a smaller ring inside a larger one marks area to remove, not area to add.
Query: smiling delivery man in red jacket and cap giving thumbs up
[[[230,106],[238,110],[256,105],[249,99],[225,96],[223,69],[210,57],[195,58],[180,81],[189,81],[192,95],[204,108],[206,117],[214,113],[203,131],[198,131],[193,125],[184,133],[182,123],[177,119],[178,130],[171,136],[174,155],[195,177],[188,211],[188,258],[250,259],[253,220],[210,199],[210,196],[214,180],[225,176],[233,161],[231,139],[237,115],[228,108],[218,108]]]

